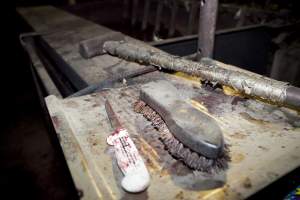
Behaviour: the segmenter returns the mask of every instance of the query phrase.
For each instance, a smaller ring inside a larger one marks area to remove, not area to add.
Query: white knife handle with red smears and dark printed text
[[[150,175],[126,129],[117,129],[107,138],[113,145],[117,163],[124,178],[122,187],[128,192],[141,192],[150,184]]]

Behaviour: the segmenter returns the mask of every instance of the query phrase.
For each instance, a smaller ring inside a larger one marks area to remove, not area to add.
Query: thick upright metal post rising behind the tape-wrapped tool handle
[[[198,60],[202,57],[213,57],[217,14],[218,0],[202,0],[200,2]]]

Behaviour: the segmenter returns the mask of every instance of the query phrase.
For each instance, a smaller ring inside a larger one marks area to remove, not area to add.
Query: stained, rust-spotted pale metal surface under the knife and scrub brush
[[[217,121],[229,144],[229,169],[200,173],[170,156],[157,130],[133,110],[140,83],[151,80],[145,78],[135,85],[104,91],[151,173],[148,190],[128,194],[120,186],[122,174],[106,144],[112,129],[102,93],[63,100],[49,96],[50,116],[84,198],[243,199],[300,166],[300,116],[296,112],[227,96],[179,76],[160,78],[171,81],[193,107]]]

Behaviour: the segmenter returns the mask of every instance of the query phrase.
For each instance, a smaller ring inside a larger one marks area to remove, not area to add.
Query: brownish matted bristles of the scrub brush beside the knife
[[[168,152],[176,159],[185,163],[189,168],[207,173],[217,172],[228,168],[230,157],[227,145],[224,147],[223,154],[217,159],[207,158],[190,150],[179,142],[169,131],[160,115],[145,102],[141,100],[135,102],[134,111],[143,114],[147,120],[151,121],[153,127],[160,133],[159,138],[164,143]]]

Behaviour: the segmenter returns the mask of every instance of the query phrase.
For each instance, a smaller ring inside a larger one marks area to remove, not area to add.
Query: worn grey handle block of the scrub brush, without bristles
[[[144,84],[140,98],[162,117],[170,132],[186,147],[213,159],[223,153],[224,139],[217,122],[188,104],[170,82]]]

